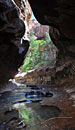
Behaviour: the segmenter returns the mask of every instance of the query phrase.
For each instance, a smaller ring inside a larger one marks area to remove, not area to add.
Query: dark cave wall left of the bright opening
[[[19,15],[12,0],[0,0],[0,83],[14,76],[29,46],[21,42],[25,25]]]

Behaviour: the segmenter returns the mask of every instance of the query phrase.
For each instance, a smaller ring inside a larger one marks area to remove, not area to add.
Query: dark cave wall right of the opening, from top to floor
[[[75,77],[75,1],[29,0],[41,24],[50,26],[50,36],[58,48],[56,75],[53,80]],[[61,78],[60,78],[61,77]],[[71,79],[71,78],[70,78]]]

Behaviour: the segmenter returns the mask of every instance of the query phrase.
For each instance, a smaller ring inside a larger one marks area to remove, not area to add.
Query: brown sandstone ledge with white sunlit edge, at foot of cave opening
[[[39,67],[37,69],[19,73],[15,76],[15,81],[25,84],[50,85],[51,77],[55,75],[55,68]]]

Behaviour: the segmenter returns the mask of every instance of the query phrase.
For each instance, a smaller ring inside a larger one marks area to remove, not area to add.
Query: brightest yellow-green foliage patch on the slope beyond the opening
[[[40,52],[40,46],[45,44],[44,40],[35,40],[30,43],[30,48],[33,49],[31,51],[22,66],[21,72],[32,70],[34,68],[39,67],[44,60],[44,52]]]

